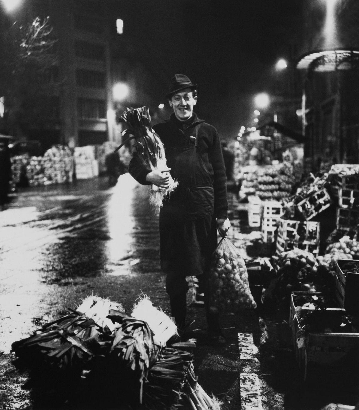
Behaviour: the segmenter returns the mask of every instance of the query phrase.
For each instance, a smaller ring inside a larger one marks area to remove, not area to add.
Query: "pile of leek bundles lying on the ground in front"
[[[193,367],[193,342],[171,343],[170,317],[139,297],[127,314],[120,303],[89,296],[76,310],[12,344],[22,364],[46,368],[101,395],[106,386],[129,408],[219,409]],[[111,393],[112,394],[112,393]]]

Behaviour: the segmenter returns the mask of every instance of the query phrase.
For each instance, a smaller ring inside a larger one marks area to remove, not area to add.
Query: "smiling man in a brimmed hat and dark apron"
[[[153,129],[164,144],[169,169],[151,171],[135,156],[128,171],[141,184],[166,188],[167,171],[179,182],[160,209],[160,262],[167,275],[171,312],[181,332],[187,308],[186,276],[197,276],[200,284],[206,283],[201,278],[208,275],[210,257],[217,246],[217,229],[226,236],[230,222],[226,172],[217,130],[193,112],[197,84],[176,74],[166,97],[173,113]],[[223,343],[218,314],[208,306],[206,285],[204,290],[208,332],[214,342]]]

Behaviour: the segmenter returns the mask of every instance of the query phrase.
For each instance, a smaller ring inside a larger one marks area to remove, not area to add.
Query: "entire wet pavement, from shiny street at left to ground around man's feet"
[[[67,314],[86,296],[110,298],[130,312],[138,296],[146,294],[169,313],[159,268],[158,214],[149,209],[148,194],[148,187],[125,174],[115,187],[101,177],[19,189],[0,212],[1,410],[80,409],[59,399],[53,387],[31,387],[29,374],[14,366],[10,349],[11,343]],[[232,212],[231,218],[243,225],[236,241],[245,257],[250,235],[245,213]],[[190,337],[197,339],[194,368],[199,383],[222,402],[223,410],[241,408],[240,380],[252,375],[259,396],[257,407],[247,408],[318,410],[340,399],[303,391],[289,328],[283,331],[260,303],[256,311],[223,315],[227,342],[218,347],[208,343],[203,307],[191,302],[189,292],[188,317],[195,321]],[[252,355],[241,356],[238,333],[252,337]]]

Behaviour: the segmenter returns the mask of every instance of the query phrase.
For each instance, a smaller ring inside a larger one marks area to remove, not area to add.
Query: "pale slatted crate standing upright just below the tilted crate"
[[[320,224],[313,221],[292,221],[289,219],[278,219],[278,235],[276,253],[290,251],[294,248],[319,253]]]

